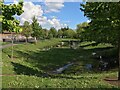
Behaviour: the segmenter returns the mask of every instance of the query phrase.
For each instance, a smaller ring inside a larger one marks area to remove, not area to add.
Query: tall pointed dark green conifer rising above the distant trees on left
[[[37,39],[40,37],[40,34],[41,34],[41,30],[42,30],[42,27],[39,25],[39,23],[37,22],[37,19],[35,17],[33,17],[32,19],[32,36],[34,37],[35,39],[35,43],[37,43]]]

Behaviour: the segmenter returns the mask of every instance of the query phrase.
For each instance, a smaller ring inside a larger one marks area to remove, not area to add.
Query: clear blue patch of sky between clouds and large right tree
[[[61,22],[67,23],[71,28],[76,28],[76,24],[88,20],[84,17],[84,13],[80,11],[80,2],[65,2],[60,12],[45,14],[45,16],[56,16]]]

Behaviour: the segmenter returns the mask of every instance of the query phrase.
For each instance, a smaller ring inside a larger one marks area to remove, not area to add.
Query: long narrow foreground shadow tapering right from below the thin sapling
[[[84,78],[86,78],[86,77],[72,77],[72,76],[66,76],[66,75],[61,76],[59,74],[42,73],[38,70],[21,65],[19,63],[15,63],[15,62],[11,62],[11,63],[14,66],[14,71],[19,75],[37,76],[37,77],[42,77],[42,78],[49,77],[51,79],[54,79],[54,78],[84,79]],[[96,79],[96,77],[89,77],[89,78]]]

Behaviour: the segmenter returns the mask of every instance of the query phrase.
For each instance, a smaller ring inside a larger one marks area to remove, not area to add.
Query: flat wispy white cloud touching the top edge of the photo
[[[49,12],[59,12],[61,8],[64,7],[64,0],[59,0],[53,2],[52,0],[45,0],[46,13]]]

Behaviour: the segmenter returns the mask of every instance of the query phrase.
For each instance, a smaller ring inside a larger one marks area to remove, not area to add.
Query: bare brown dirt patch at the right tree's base
[[[120,80],[118,81],[117,77],[106,77],[104,81],[120,88]]]

